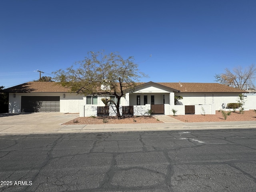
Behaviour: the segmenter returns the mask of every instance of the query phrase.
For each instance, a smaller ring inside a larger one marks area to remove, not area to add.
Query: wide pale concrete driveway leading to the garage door
[[[79,114],[58,112],[0,114],[0,133],[6,130],[19,133],[58,130],[65,126],[63,123],[77,117]]]

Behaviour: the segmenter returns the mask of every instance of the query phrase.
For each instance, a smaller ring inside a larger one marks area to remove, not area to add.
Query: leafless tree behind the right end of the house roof
[[[230,71],[228,68],[225,69],[225,73],[216,74],[215,81],[220,84],[246,90],[248,88],[255,88],[253,80],[256,78],[256,67],[254,64],[249,67],[243,68],[238,66]]]

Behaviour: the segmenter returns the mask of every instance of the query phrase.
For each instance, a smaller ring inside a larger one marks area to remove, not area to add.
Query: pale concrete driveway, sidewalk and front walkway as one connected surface
[[[256,128],[256,121],[190,123],[166,116],[156,117],[166,123],[62,125],[78,116],[78,114],[61,113],[0,116],[0,135]]]

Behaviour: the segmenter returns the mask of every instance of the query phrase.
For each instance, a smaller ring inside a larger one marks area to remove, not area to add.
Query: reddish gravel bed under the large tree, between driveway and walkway
[[[110,116],[97,117],[78,117],[74,120],[64,123],[63,125],[77,124],[136,124],[136,123],[163,123],[153,116],[126,116],[121,119]]]

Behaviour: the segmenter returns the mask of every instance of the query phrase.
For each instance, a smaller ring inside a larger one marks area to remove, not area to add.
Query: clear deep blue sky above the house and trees
[[[1,0],[0,86],[100,50],[134,56],[142,82],[214,82],[256,64],[255,10],[255,0]]]

